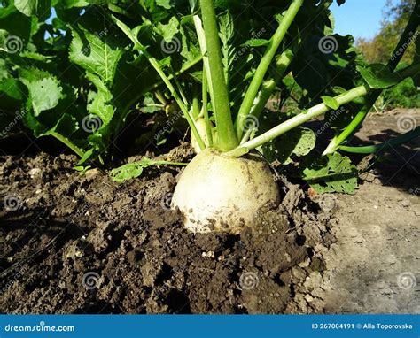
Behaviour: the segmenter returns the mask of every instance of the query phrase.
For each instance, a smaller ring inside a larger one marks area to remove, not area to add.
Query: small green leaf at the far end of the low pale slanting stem
[[[401,81],[401,77],[392,73],[386,65],[372,64],[367,67],[358,66],[357,70],[370,88],[384,89],[389,88]]]

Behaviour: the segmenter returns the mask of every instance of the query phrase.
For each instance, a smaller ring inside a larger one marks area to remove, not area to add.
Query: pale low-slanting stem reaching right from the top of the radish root
[[[357,97],[365,96],[368,94],[368,92],[369,88],[367,86],[359,86],[346,91],[346,93],[335,96],[334,98],[337,100],[339,105],[342,105],[353,101]],[[274,140],[281,134],[288,132],[294,127],[298,127],[301,124],[307,122],[308,120],[314,119],[315,117],[322,115],[327,111],[330,111],[330,108],[328,106],[326,106],[325,104],[317,104],[314,107],[310,108],[308,111],[301,112],[299,115],[294,116],[292,119],[288,119],[280,125],[278,125],[277,127],[268,130],[268,132],[253,138],[253,140],[251,141],[245,142],[236,149],[229,151],[226,155],[230,157],[243,156],[247,152],[249,152],[249,150],[258,148],[262,144]]]

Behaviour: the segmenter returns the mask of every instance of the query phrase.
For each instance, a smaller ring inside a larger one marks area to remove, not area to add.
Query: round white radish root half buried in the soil
[[[237,234],[253,227],[262,206],[279,200],[279,189],[261,157],[234,158],[203,150],[181,174],[172,206],[183,213],[191,232]]]

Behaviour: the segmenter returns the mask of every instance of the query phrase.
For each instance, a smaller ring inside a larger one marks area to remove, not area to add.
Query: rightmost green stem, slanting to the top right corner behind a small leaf
[[[388,61],[388,67],[391,70],[394,70],[396,66],[400,63],[402,56],[404,55],[404,52],[406,48],[404,48],[404,44],[406,44],[409,41],[410,34],[413,34],[416,32],[419,22],[419,14],[420,13],[420,1],[416,1],[415,8],[413,12],[411,13],[411,17],[408,20],[407,27],[404,29],[404,32],[401,35],[400,41],[398,42],[397,46],[395,47],[395,50],[393,50],[393,55]],[[402,49],[402,52],[400,51]],[[355,116],[353,121],[344,128],[344,130],[334,136],[334,138],[331,140],[328,147],[323,151],[323,155],[330,154],[331,152],[334,152],[338,149],[338,146],[346,141],[346,139],[351,135],[354,134],[354,131],[362,125],[363,120],[366,118],[366,115],[371,110],[373,104],[377,101],[377,98],[381,95],[382,89],[376,89],[372,90],[369,96],[366,99],[366,104],[362,107],[362,110],[359,111]]]

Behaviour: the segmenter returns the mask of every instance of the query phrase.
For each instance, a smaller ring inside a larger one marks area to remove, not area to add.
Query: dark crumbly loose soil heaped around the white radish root
[[[283,202],[261,211],[254,231],[191,234],[168,207],[178,169],[118,185],[97,169],[76,173],[75,161],[0,157],[2,312],[323,311],[331,215],[299,186],[277,175]]]

